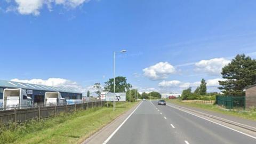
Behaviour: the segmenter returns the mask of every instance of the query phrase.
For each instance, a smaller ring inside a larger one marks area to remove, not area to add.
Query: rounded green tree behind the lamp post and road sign
[[[126,77],[118,76],[115,78],[115,92],[126,92],[132,88],[132,85],[126,82]],[[105,82],[105,91],[114,92],[114,78],[109,78]]]

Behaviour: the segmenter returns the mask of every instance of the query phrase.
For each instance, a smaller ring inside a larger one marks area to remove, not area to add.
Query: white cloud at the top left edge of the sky
[[[15,6],[14,10],[18,11],[20,14],[33,14],[39,15],[40,10],[43,6],[47,6],[49,11],[52,11],[52,5],[62,5],[67,9],[75,9],[77,6],[80,6],[84,3],[89,2],[90,0],[14,0]],[[10,1],[6,1],[8,7],[12,7]],[[6,11],[10,12],[10,10]]]

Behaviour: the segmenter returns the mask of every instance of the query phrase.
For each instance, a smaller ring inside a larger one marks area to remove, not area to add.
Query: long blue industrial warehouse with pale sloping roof
[[[53,87],[46,85],[28,84],[13,81],[0,80],[0,100],[3,100],[4,89],[23,89],[26,91],[27,96],[32,99],[34,103],[43,103],[45,92],[60,92],[62,98],[66,100],[82,99],[82,93],[78,93],[74,90],[70,90],[63,87]]]

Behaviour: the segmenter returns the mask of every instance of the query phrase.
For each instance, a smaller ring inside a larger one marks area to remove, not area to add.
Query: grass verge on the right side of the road
[[[232,115],[232,116],[237,116],[237,117],[256,121],[256,109],[249,109],[246,111],[244,111],[243,109],[224,110],[220,108],[218,105],[209,105],[209,104],[195,103],[195,102],[182,102],[179,99],[167,100],[167,102],[175,103],[178,105],[201,108],[205,110],[215,111],[221,114]]]

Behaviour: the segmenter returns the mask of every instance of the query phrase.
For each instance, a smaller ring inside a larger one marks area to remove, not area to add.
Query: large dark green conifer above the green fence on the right
[[[236,55],[227,66],[222,68],[222,78],[219,89],[225,95],[245,95],[243,91],[248,85],[256,81],[256,60],[246,57],[245,54]]]

